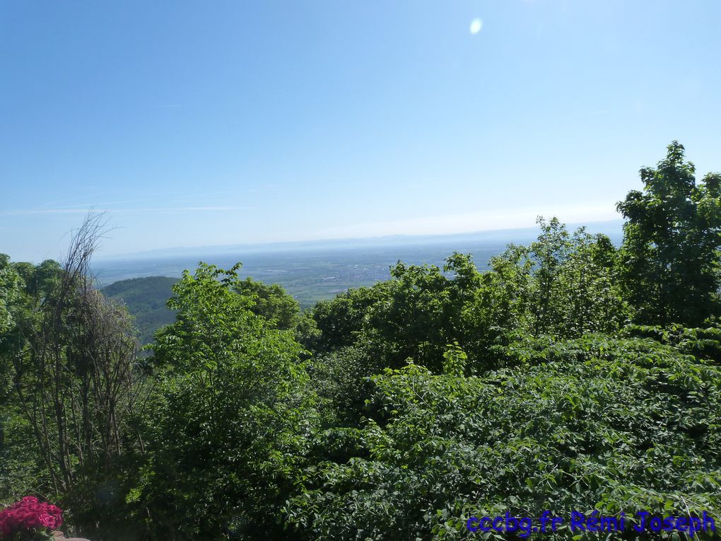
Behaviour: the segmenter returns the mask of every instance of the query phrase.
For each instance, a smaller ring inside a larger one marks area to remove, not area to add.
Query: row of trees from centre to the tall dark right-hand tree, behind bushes
[[[354,359],[366,351],[368,367],[412,359],[439,374],[448,344],[458,343],[469,373],[479,374],[497,367],[493,348],[516,331],[573,338],[622,327],[627,307],[610,239],[583,228],[571,234],[555,218],[539,225],[535,242],[510,245],[491,271],[458,252],[442,269],[399,262],[390,280],[319,303],[312,313],[321,336],[311,349],[355,346]]]

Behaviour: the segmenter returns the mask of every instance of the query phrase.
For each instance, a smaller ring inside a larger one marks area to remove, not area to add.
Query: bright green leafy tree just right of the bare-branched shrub
[[[186,271],[168,303],[176,321],[156,335],[151,452],[128,501],[150,513],[158,538],[271,537],[274,505],[309,446],[316,413],[301,346],[252,312],[238,266]]]

